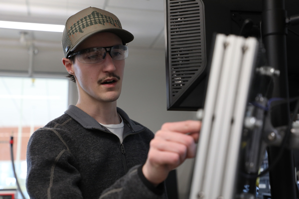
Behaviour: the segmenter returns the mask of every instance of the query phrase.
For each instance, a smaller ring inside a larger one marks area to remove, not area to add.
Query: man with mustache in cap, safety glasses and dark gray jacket
[[[133,39],[114,14],[95,7],[66,21],[62,62],[79,99],[29,140],[31,199],[166,198],[169,171],[195,156],[198,121],[165,123],[154,136],[117,107],[124,44]]]

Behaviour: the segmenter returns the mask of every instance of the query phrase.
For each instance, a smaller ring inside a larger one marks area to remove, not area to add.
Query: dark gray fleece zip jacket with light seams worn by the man
[[[124,140],[70,105],[30,137],[26,188],[30,199],[163,199],[143,176],[154,134],[120,108]]]

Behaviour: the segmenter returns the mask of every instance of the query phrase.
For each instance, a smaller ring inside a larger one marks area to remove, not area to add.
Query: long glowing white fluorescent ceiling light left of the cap
[[[11,28],[11,29],[20,29],[20,30],[38,30],[38,31],[49,31],[49,32],[63,32],[64,25],[0,21],[0,28]]]

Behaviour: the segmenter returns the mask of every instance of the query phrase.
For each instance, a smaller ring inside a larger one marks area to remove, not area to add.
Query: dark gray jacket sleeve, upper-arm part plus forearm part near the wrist
[[[26,188],[30,199],[83,199],[76,158],[55,129],[33,133],[27,146]],[[147,182],[137,165],[98,199],[164,199],[163,185]]]

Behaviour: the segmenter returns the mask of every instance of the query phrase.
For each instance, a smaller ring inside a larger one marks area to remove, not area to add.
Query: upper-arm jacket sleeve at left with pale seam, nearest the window
[[[32,134],[27,146],[26,189],[30,199],[83,199],[81,176],[55,129]],[[57,134],[56,134],[57,133]]]

